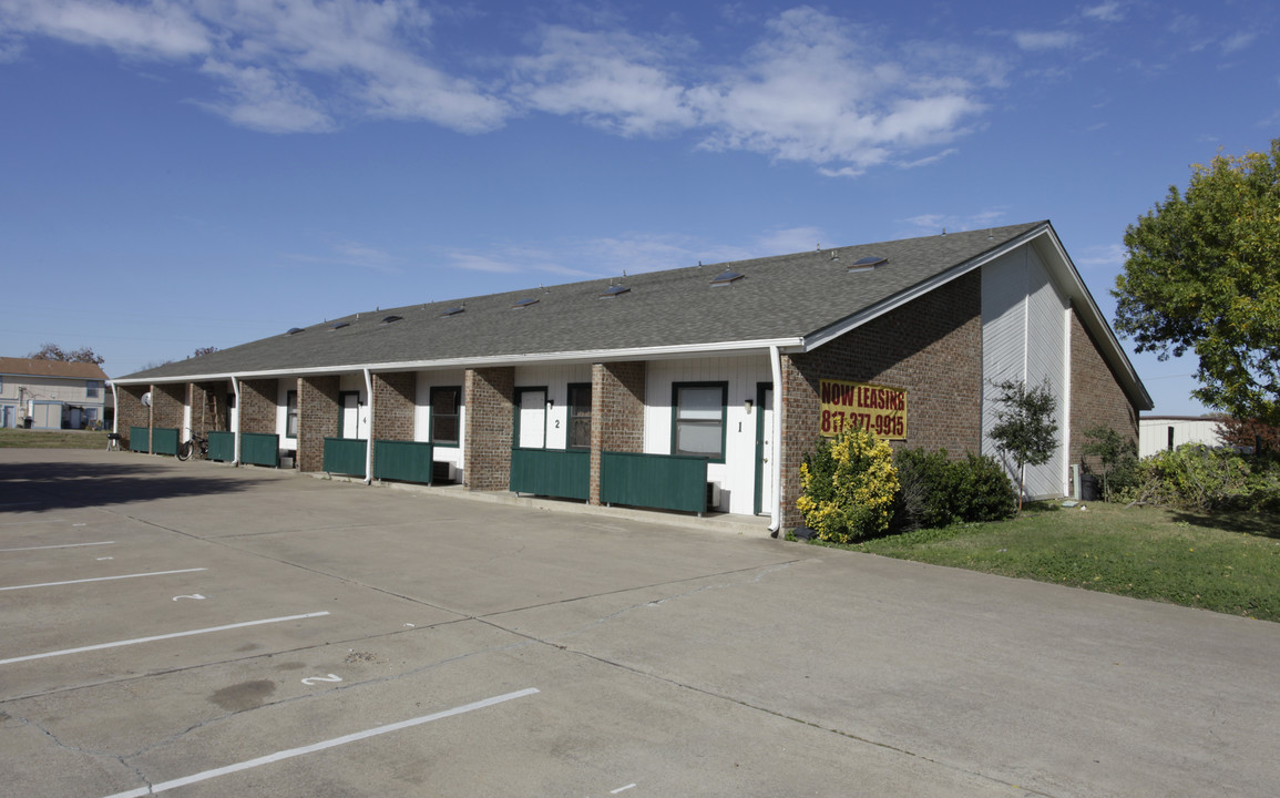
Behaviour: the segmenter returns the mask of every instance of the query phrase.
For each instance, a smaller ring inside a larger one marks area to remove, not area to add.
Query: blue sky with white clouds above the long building
[[[1272,0],[0,0],[0,354],[115,377],[1037,219],[1111,318],[1125,227],[1280,134],[1277,26]],[[1201,412],[1194,361],[1133,360],[1156,412]]]

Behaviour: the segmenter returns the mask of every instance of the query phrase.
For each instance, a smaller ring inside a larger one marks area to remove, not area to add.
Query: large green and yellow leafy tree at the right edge
[[[1161,360],[1194,351],[1206,405],[1280,423],[1280,138],[1193,167],[1124,242],[1116,330]]]

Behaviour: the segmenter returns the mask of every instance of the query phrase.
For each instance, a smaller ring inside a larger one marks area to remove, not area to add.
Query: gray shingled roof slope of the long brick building
[[[119,379],[503,356],[536,359],[564,352],[803,338],[1047,224],[1033,222],[362,311]],[[888,261],[874,270],[849,272],[851,264],[868,256]],[[727,269],[744,277],[713,287],[712,281]],[[628,291],[602,298],[611,284]],[[512,307],[526,298],[538,301]],[[466,310],[444,315],[458,306]],[[381,322],[393,315],[402,319]],[[349,324],[330,329],[337,322]]]

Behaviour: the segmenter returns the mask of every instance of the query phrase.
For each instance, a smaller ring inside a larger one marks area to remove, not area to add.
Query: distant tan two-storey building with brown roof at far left
[[[0,427],[83,429],[101,423],[106,374],[95,362],[0,357]]]

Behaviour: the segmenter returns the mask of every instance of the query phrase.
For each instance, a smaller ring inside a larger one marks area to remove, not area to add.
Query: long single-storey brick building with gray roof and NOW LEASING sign
[[[212,432],[224,460],[790,528],[819,434],[993,453],[1007,378],[1059,397],[1030,496],[1152,406],[1048,222],[362,311],[113,382],[136,450]]]

